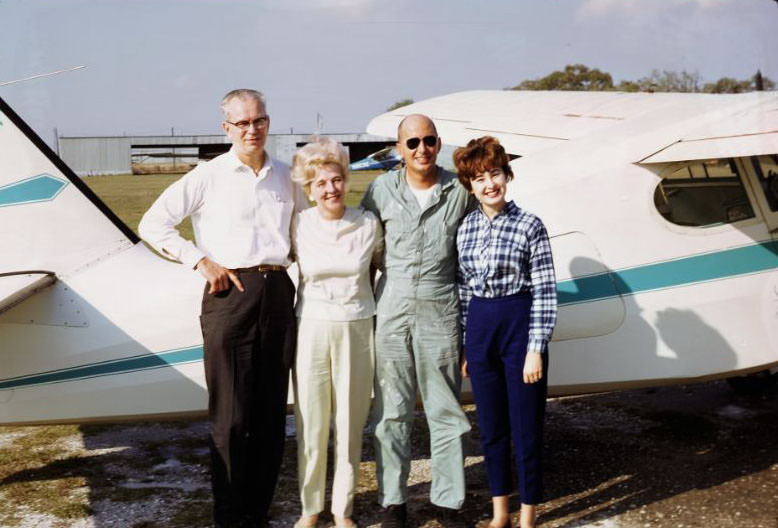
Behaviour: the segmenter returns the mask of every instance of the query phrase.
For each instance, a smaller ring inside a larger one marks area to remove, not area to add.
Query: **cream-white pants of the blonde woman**
[[[370,411],[373,319],[299,319],[294,367],[297,465],[302,514],[324,509],[327,442],[333,424],[332,514],[349,517]]]

